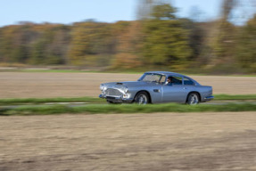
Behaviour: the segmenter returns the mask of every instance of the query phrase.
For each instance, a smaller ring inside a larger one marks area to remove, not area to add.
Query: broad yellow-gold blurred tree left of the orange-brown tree
[[[71,31],[69,58],[72,64],[88,65],[109,61],[112,50],[111,27],[92,21],[76,23]],[[104,56],[103,56],[104,55]]]

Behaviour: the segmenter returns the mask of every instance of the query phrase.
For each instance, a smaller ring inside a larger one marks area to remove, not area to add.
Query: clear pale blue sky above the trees
[[[72,22],[95,19],[114,22],[136,20],[137,0],[0,0],[0,27],[32,21],[36,23]],[[221,0],[171,0],[178,7],[178,16],[190,17],[192,9],[201,12],[199,20],[219,16]]]

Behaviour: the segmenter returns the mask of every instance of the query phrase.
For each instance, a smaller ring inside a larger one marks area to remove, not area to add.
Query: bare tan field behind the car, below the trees
[[[137,74],[0,72],[0,98],[97,97],[99,85],[134,81]],[[192,76],[214,94],[256,94],[256,77]]]

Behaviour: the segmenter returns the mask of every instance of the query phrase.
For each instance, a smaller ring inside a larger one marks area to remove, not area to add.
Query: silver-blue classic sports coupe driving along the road
[[[197,104],[213,99],[212,87],[197,83],[191,77],[175,72],[150,71],[134,82],[113,82],[100,85],[100,98],[110,103],[139,104],[178,102]]]

